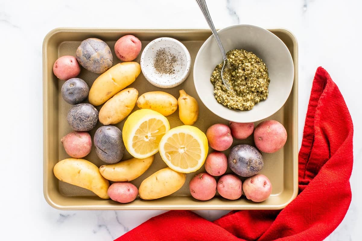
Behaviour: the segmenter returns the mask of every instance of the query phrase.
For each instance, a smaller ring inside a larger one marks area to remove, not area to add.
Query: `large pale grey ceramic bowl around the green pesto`
[[[223,119],[234,122],[255,122],[277,112],[286,102],[294,81],[294,65],[286,45],[270,31],[252,25],[233,25],[218,31],[225,51],[252,51],[268,68],[270,84],[266,100],[249,111],[229,109],[214,97],[210,77],[215,66],[222,63],[222,55],[213,35],[201,46],[194,64],[194,84],[205,106]]]

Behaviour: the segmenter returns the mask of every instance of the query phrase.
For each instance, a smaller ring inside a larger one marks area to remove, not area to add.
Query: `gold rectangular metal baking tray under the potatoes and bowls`
[[[75,56],[76,48],[80,42],[86,38],[96,37],[104,40],[111,48],[113,54],[113,64],[120,61],[114,54],[115,41],[126,34],[133,34],[142,41],[142,47],[145,47],[151,40],[159,37],[171,37],[180,40],[188,48],[192,64],[196,54],[203,44],[209,38],[211,32],[209,29],[88,29],[88,28],[58,28],[50,31],[43,42],[43,192],[46,201],[52,207],[61,210],[126,210],[126,209],[143,209],[143,210],[201,210],[201,209],[224,209],[224,210],[241,210],[241,209],[281,209],[290,203],[298,194],[298,44],[295,36],[286,29],[268,29],[277,35],[288,47],[294,61],[294,84],[289,99],[285,105],[273,116],[268,119],[274,119],[281,122],[288,134],[288,139],[283,147],[274,154],[265,154],[264,168],[261,173],[268,176],[273,184],[273,192],[271,196],[264,202],[254,203],[248,201],[245,197],[238,200],[227,200],[218,194],[209,201],[198,201],[191,197],[189,192],[189,181],[197,173],[204,172],[205,168],[201,168],[195,173],[187,175],[184,186],[176,193],[168,197],[156,200],[142,200],[137,198],[135,201],[127,204],[117,203],[109,200],[98,198],[91,191],[88,191],[71,184],[59,181],[53,174],[54,165],[64,158],[68,158],[63,149],[60,138],[71,132],[68,126],[66,115],[71,105],[62,99],[60,89],[64,81],[59,81],[52,72],[52,66],[55,60],[63,55]],[[142,48],[143,49],[143,48]],[[140,57],[135,61],[139,63]],[[178,90],[185,91],[198,100],[200,107],[199,119],[195,123],[202,131],[215,123],[225,123],[228,121],[221,119],[209,111],[198,98],[194,83],[193,70],[190,76],[180,86],[172,89],[157,88],[144,78],[142,73],[130,87],[135,87],[139,91],[139,95],[147,91],[163,90],[178,98]],[[211,74],[211,73],[210,73]],[[79,78],[84,79],[90,86],[97,74],[90,73],[82,69]],[[100,106],[97,107],[100,109]],[[135,107],[135,110],[138,109]],[[167,119],[171,128],[182,125],[178,119],[178,111],[176,111]],[[116,126],[122,130],[123,122]],[[257,124],[257,123],[256,123]],[[93,137],[94,132],[101,126],[100,123],[90,131]],[[244,141],[236,140],[234,145],[247,143],[253,145],[252,138]],[[211,148],[210,148],[211,151]],[[227,153],[226,151],[225,153]],[[131,158],[126,152],[123,159]],[[104,164],[96,155],[94,146],[92,151],[84,159],[93,162],[98,167]],[[142,180],[150,176],[155,171],[166,167],[160,155],[155,155],[155,161],[151,167],[140,177],[136,178],[132,183],[139,187]],[[228,169],[227,173],[230,173]]]

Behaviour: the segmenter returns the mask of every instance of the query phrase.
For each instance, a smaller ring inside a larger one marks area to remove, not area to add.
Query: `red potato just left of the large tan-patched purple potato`
[[[80,66],[75,57],[66,55],[57,59],[53,65],[53,73],[58,79],[68,80],[80,73]]]

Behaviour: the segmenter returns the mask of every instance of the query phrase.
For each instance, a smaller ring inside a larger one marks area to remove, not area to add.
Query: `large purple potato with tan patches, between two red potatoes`
[[[83,40],[77,48],[76,57],[85,69],[97,74],[105,72],[113,64],[111,49],[97,38]]]

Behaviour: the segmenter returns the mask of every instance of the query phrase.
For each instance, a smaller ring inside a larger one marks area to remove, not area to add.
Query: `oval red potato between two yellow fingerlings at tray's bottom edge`
[[[116,202],[132,202],[138,195],[138,189],[130,182],[115,182],[109,186],[108,196]]]

